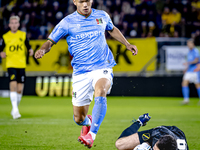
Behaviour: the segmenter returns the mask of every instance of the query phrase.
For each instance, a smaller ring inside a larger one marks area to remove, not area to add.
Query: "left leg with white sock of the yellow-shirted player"
[[[10,82],[10,100],[12,104],[11,115],[13,116],[13,119],[18,119],[21,115],[17,105],[17,81]]]

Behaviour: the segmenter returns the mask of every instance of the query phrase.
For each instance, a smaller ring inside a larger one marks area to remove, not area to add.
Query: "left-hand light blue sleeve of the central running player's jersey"
[[[61,20],[53,29],[48,37],[48,40],[56,44],[61,38],[68,34],[68,23],[66,20]]]

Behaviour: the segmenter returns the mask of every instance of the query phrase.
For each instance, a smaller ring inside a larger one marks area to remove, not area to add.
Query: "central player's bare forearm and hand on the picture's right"
[[[123,36],[123,34],[119,31],[118,28],[114,27],[112,31],[108,31],[108,32],[113,38],[115,38],[117,41],[124,44],[126,48],[132,52],[133,55],[137,55],[138,53],[137,47],[135,45],[131,45]]]

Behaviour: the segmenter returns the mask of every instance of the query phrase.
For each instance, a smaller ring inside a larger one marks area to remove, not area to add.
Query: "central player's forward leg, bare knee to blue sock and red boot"
[[[95,105],[92,111],[92,125],[90,132],[85,136],[80,136],[79,139],[88,148],[91,148],[95,140],[99,127],[105,117],[107,111],[106,94],[111,86],[111,82],[106,78],[99,79],[95,84]]]

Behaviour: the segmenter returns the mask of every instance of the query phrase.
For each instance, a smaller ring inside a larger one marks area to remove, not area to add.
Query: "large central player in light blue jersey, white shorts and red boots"
[[[73,0],[77,11],[57,24],[48,40],[35,53],[39,59],[62,37],[66,37],[68,50],[73,56],[73,113],[76,124],[83,126],[79,142],[92,147],[107,111],[106,95],[112,86],[112,67],[116,65],[106,43],[105,31],[123,43],[133,55],[137,47],[131,45],[113,25],[109,15],[92,9],[93,0]],[[87,115],[95,95],[92,116]]]

